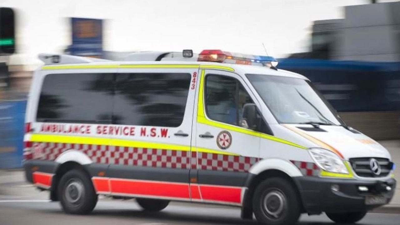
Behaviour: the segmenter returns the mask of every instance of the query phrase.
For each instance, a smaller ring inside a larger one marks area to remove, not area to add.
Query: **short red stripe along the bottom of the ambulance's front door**
[[[204,201],[221,201],[241,203],[242,189],[239,187],[209,187],[200,185],[201,196]]]

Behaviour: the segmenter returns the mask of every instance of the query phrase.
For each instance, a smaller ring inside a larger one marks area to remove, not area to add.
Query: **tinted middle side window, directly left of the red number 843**
[[[116,78],[115,124],[179,127],[190,86],[186,73],[126,73]]]

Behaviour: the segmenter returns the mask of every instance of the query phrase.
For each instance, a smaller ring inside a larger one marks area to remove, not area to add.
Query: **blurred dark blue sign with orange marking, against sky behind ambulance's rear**
[[[72,45],[70,54],[102,58],[103,56],[103,20],[89,18],[71,18]]]

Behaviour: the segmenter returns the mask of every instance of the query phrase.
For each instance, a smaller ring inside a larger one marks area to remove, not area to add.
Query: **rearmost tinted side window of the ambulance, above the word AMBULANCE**
[[[48,74],[43,81],[38,122],[111,123],[114,74]]]

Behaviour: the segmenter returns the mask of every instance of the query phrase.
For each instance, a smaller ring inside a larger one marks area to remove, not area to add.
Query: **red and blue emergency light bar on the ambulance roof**
[[[275,68],[278,65],[278,60],[271,56],[247,55],[234,52],[225,52],[222,50],[203,50],[198,56],[198,61],[261,65],[268,66],[270,68]]]

